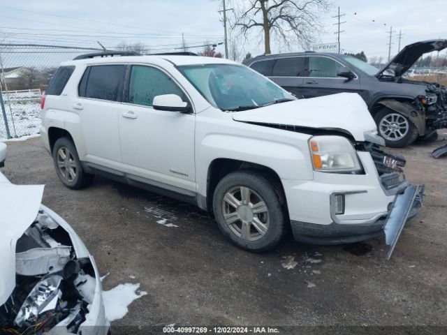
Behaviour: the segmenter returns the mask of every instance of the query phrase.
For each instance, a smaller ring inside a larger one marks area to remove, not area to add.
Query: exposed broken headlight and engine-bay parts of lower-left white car
[[[17,240],[15,288],[0,306],[0,334],[76,334],[89,313],[95,271],[76,258],[69,234],[40,211]]]

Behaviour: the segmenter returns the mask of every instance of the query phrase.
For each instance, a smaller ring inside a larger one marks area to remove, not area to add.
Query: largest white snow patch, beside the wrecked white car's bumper
[[[112,290],[103,291],[105,316],[109,321],[124,318],[129,312],[128,306],[136,299],[147,295],[147,292],[138,291],[140,284],[119,284]]]

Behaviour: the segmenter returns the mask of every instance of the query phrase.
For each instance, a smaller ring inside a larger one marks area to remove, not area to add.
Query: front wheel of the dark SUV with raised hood
[[[387,147],[403,148],[418,138],[418,130],[413,122],[394,110],[382,108],[374,121]]]

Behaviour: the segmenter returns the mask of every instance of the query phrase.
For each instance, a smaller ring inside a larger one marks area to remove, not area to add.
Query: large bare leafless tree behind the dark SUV
[[[291,39],[308,47],[314,34],[321,31],[318,13],[328,10],[330,0],[247,0],[233,1],[233,30],[246,38],[252,29],[262,29],[265,54],[270,54],[274,35],[290,46]]]

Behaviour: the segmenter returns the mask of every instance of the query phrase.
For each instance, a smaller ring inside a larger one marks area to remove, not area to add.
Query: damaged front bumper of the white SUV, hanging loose
[[[424,188],[411,186],[404,178],[402,157],[372,146],[359,148],[358,156],[364,174],[316,173],[313,181],[295,184],[286,191],[291,197],[288,208],[293,236],[303,243],[330,245],[385,233],[389,258],[404,223],[420,211]],[[302,201],[306,197],[315,199],[315,208]],[[312,213],[312,217],[302,213]]]

